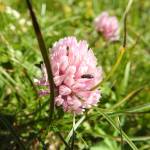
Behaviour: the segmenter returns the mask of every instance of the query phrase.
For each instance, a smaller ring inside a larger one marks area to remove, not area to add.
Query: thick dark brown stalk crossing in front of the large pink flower
[[[35,13],[33,11],[32,5],[30,3],[30,0],[26,0],[26,2],[27,2],[27,5],[28,5],[30,16],[32,18],[32,24],[33,24],[34,31],[35,31],[35,34],[36,34],[36,38],[38,40],[38,44],[39,44],[40,51],[41,51],[41,54],[42,54],[42,57],[43,57],[43,60],[44,60],[44,64],[46,66],[49,85],[51,87],[49,119],[50,119],[50,121],[52,121],[53,113],[54,113],[54,96],[55,96],[54,87],[55,86],[54,86],[54,81],[53,81],[51,63],[50,63],[50,60],[49,60],[48,52],[47,52],[47,49],[46,49],[46,46],[45,46],[45,43],[44,43],[44,39],[43,39],[41,30],[40,30],[40,27],[39,27],[39,24],[37,22],[37,19],[36,19]]]

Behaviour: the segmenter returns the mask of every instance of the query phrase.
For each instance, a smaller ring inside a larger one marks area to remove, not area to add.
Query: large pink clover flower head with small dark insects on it
[[[86,41],[77,42],[75,37],[60,39],[51,49],[50,60],[57,106],[79,114],[98,103],[100,91],[91,91],[91,88],[102,80],[102,69],[97,67],[96,57]],[[49,84],[45,65],[42,65],[42,72],[43,77],[35,83],[47,87],[39,92],[46,95]]]

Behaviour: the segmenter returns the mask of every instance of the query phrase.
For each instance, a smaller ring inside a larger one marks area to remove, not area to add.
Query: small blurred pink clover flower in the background
[[[108,12],[101,13],[94,20],[95,29],[101,32],[105,40],[116,41],[119,39],[119,23],[115,16],[109,16]]]

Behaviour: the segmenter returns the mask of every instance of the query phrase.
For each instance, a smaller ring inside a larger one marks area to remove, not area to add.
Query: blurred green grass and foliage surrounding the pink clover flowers
[[[64,36],[89,42],[104,77],[116,62],[123,41],[123,14],[128,0],[32,0],[47,48]],[[109,11],[120,21],[121,36],[106,43],[94,18]],[[131,149],[105,112],[140,150],[150,149],[150,1],[134,0],[127,19],[127,49],[119,67],[104,82],[98,107],[88,111],[76,131],[75,149]],[[72,115],[57,110],[49,127],[48,97],[39,98],[33,80],[42,61],[25,0],[0,1],[0,149],[64,149]],[[77,116],[79,120],[82,116]]]

